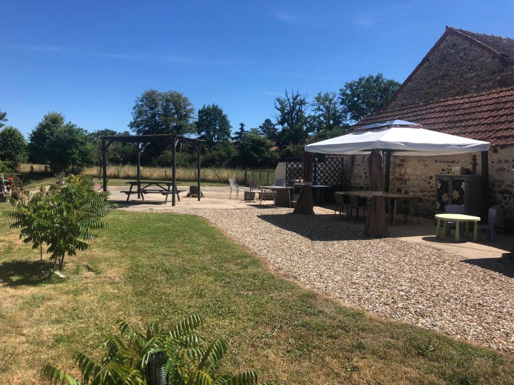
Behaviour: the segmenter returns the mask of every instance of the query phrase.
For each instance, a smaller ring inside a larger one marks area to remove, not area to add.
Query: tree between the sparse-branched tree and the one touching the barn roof
[[[342,124],[342,113],[335,92],[319,92],[311,107],[313,114],[310,115],[309,124],[316,134],[332,131]]]

